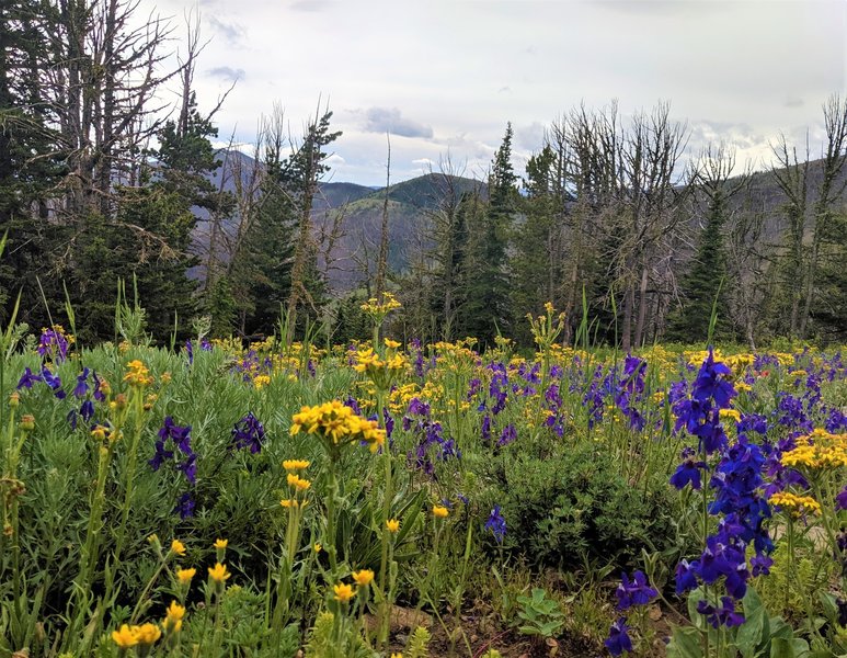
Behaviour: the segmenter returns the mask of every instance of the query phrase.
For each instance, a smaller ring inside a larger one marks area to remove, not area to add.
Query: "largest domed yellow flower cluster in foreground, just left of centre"
[[[343,445],[354,441],[365,441],[370,452],[379,450],[386,441],[386,432],[379,429],[375,420],[357,416],[353,409],[339,400],[314,407],[302,407],[291,419],[290,433],[317,434],[332,445]]]

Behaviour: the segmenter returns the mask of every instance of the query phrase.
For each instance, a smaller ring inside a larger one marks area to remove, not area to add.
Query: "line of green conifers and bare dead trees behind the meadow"
[[[733,147],[690,154],[669,106],[623,117],[580,105],[546,129],[519,177],[511,125],[476,191],[449,161],[403,271],[387,268],[389,194],[362,288],[328,286],[344,227],[316,223],[327,158],[341,136],[328,107],[301,135],[274,107],[254,157],[217,151],[215,115],[194,89],[203,42],[190,20],[140,20],[134,0],[0,2],[0,307],[47,326],[70,303],[84,340],[115,338],[118,282],[137,291],[153,339],[290,334],[320,326],[366,336],[363,298],[393,291],[396,331],[529,342],[523,317],[546,302],[591,340],[623,349],[714,337],[847,338],[847,103],[823,107],[822,157],[779,137],[770,171]],[[170,102],[168,94],[174,94]],[[396,248],[396,246],[393,247]],[[131,282],[131,283],[130,283]],[[585,320],[583,320],[585,318]]]

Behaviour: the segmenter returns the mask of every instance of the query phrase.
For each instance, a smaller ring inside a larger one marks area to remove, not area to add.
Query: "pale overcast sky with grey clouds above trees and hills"
[[[785,134],[820,155],[822,104],[847,87],[847,0],[140,0],[188,12],[208,41],[201,110],[250,149],[282,107],[294,137],[320,109],[343,135],[328,180],[384,185],[449,160],[483,178],[506,123],[523,174],[546,126],[617,100],[625,116],[671,103],[689,157],[710,140],[767,166]],[[175,48],[180,45],[174,44]],[[176,100],[173,95],[174,102]]]

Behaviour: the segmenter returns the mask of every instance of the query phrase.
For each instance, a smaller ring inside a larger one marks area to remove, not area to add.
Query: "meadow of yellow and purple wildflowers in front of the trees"
[[[0,656],[847,656],[840,351],[397,306],[335,345],[10,325]]]

